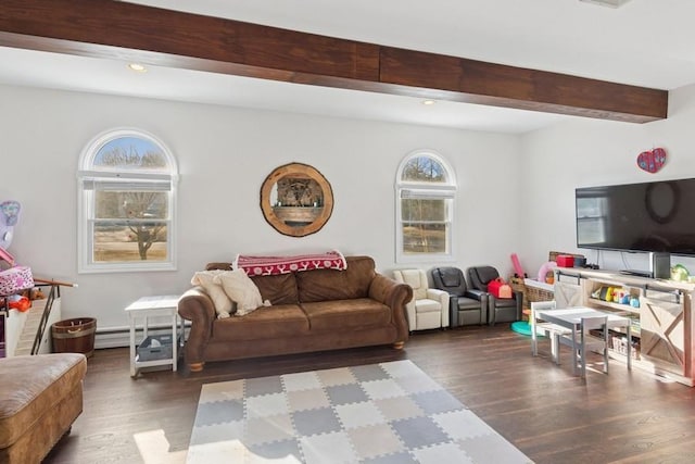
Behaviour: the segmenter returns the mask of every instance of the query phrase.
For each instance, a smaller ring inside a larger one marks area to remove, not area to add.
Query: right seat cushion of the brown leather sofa
[[[302,303],[312,330],[379,327],[391,321],[391,309],[370,298]]]

